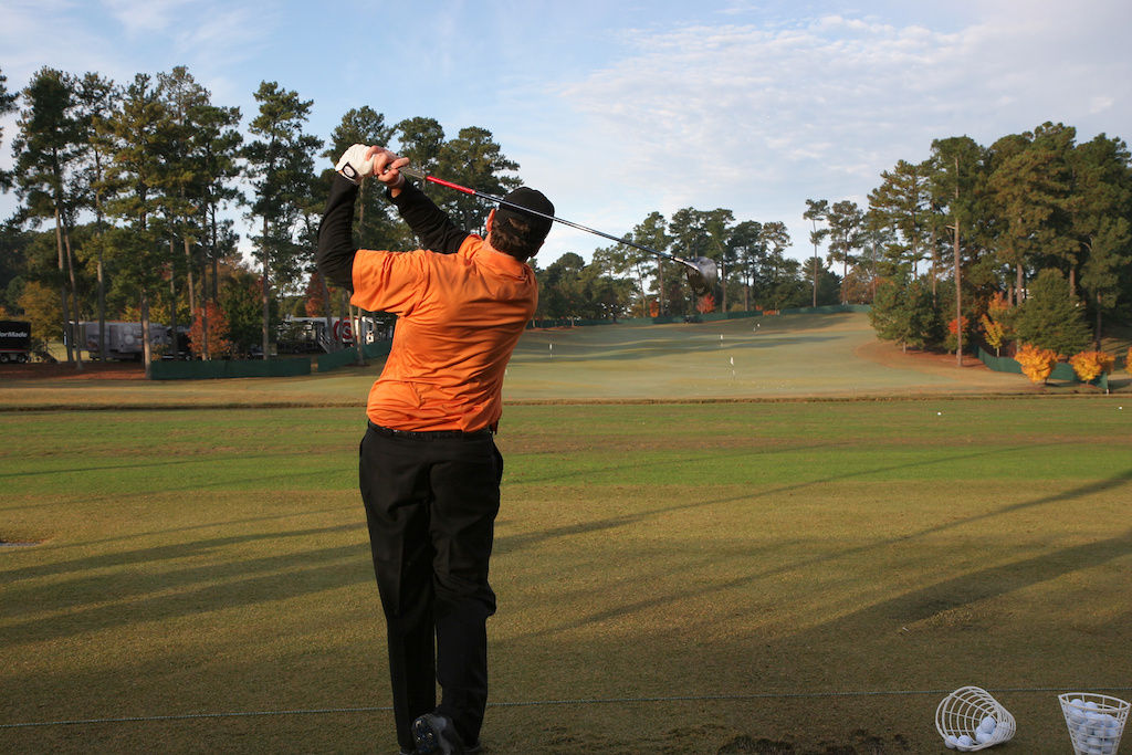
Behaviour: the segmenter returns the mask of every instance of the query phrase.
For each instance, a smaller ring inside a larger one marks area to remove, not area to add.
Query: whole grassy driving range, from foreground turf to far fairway
[[[1069,752],[1057,693],[1129,698],[1129,396],[881,370],[850,320],[786,320],[732,351],[762,388],[713,383],[719,324],[619,328],[623,358],[614,331],[524,338],[488,753],[943,752],[963,685],[1014,715],[996,750]],[[826,400],[797,400],[814,366]],[[25,409],[0,413],[0,752],[396,752],[355,487],[372,372],[54,386],[129,411],[0,389]]]

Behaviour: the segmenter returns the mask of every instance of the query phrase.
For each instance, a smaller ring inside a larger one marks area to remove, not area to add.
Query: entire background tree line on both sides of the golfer
[[[15,191],[19,208],[0,228],[0,308],[34,317],[44,337],[80,320],[147,326],[156,316],[173,327],[192,321],[201,358],[257,349],[267,358],[284,315],[345,316],[343,292],[319,280],[312,256],[331,165],[354,143],[388,145],[426,172],[489,194],[522,183],[484,128],[447,138],[435,119],[388,125],[360,106],[324,139],[305,132],[312,101],[274,81],[261,83],[247,122],[183,67],[127,85],[46,67],[18,93],[6,81],[0,71],[0,114],[17,112],[18,121],[15,169],[0,188]],[[881,337],[961,353],[972,338],[986,341],[979,325],[992,301],[1021,308],[1050,271],[1094,338],[1103,318],[1126,321],[1132,173],[1121,139],[1077,143],[1060,123],[989,147],[938,139],[926,161],[900,161],[881,180],[866,208],[806,201],[813,255],[804,261],[786,256],[792,241],[782,222],[737,221],[726,208],[650,213],[627,238],[717,260],[715,291],[696,298],[679,265],[612,243],[590,263],[576,252],[535,263],[537,316],[872,303]],[[482,229],[490,205],[424,189],[463,228]],[[378,188],[363,187],[355,212],[360,247],[415,246]],[[252,229],[251,265],[238,251],[233,213]],[[74,334],[65,341],[78,345]],[[80,359],[77,349],[69,359]]]

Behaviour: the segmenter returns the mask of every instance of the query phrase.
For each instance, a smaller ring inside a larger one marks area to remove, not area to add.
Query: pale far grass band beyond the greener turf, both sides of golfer
[[[0,406],[357,406],[380,363],[241,380],[5,380]],[[1126,375],[1110,385],[1129,392]],[[1096,391],[1096,388],[1088,388]],[[728,401],[1032,395],[1020,375],[972,359],[915,359],[877,344],[868,318],[792,315],[659,326],[528,331],[507,370],[507,402]]]

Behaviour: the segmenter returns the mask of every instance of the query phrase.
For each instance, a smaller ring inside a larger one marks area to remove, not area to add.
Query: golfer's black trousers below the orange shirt
[[[413,720],[437,710],[474,744],[488,696],[487,619],[496,609],[488,559],[503,457],[488,432],[401,435],[370,426],[359,467],[397,741],[413,749]]]

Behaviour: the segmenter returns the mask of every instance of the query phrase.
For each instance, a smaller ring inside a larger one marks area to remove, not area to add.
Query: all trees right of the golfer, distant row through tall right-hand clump
[[[1123,139],[1078,141],[1073,127],[1052,122],[989,146],[967,136],[936,139],[927,160],[901,160],[880,178],[866,207],[806,200],[813,255],[787,260],[784,283],[778,273],[790,240],[780,223],[689,208],[667,225],[651,214],[632,238],[717,260],[720,285],[700,311],[753,301],[762,309],[867,303],[882,340],[945,349],[960,361],[975,343],[1067,359],[1090,344],[1099,351],[1106,321],[1132,319],[1132,164]],[[564,257],[547,275],[559,288],[566,280],[583,302],[573,311],[600,317],[601,303],[608,317],[649,300],[640,267],[627,260],[640,266],[646,256],[599,249],[589,266]],[[663,297],[660,282],[654,274],[654,299]],[[615,284],[618,303],[606,303]],[[674,293],[669,300],[679,302]],[[557,316],[571,310],[568,295],[551,295],[567,302]]]

